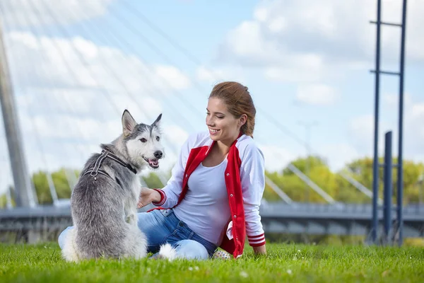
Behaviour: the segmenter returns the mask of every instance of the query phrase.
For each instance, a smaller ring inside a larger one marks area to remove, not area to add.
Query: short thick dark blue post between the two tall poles
[[[384,139],[384,241],[389,240],[389,233],[391,231],[391,131],[385,134]]]

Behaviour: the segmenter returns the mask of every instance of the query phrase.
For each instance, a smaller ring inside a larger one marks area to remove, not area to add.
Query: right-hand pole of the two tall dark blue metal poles
[[[402,214],[404,199],[404,166],[403,166],[403,136],[404,136],[404,65],[405,65],[405,33],[406,33],[406,0],[402,6],[401,26],[401,62],[399,79],[399,149],[398,149],[398,175],[397,175],[397,221],[399,224],[399,246],[402,245],[404,236],[404,219]]]

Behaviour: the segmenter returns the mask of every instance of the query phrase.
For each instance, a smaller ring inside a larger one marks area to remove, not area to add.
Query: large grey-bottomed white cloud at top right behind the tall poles
[[[383,21],[399,23],[401,1],[382,2]],[[262,67],[266,78],[276,81],[319,81],[370,68],[376,27],[369,21],[375,20],[376,6],[368,0],[261,1],[252,21],[228,33],[218,57],[225,63]],[[423,10],[423,1],[408,1],[408,62],[424,60]],[[397,64],[399,35],[399,28],[383,28],[384,64]]]

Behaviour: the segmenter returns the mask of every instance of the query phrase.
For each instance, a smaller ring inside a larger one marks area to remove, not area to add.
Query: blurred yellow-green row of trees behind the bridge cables
[[[383,159],[380,158],[380,163]],[[309,166],[307,166],[307,163]],[[394,158],[393,164],[397,163],[397,159]],[[292,161],[292,164],[296,166],[300,171],[306,172],[306,168],[309,168],[307,174],[319,187],[322,188],[326,193],[331,195],[334,200],[339,202],[352,202],[352,203],[370,203],[370,197],[360,192],[345,178],[343,178],[340,172],[332,172],[326,165],[323,158],[319,156],[308,156],[307,158],[298,158]],[[360,158],[351,161],[346,164],[346,168],[349,168],[353,173],[351,176],[365,187],[372,189],[372,158]],[[394,198],[396,202],[396,182],[397,182],[397,168],[393,168],[393,189]],[[69,172],[69,170],[68,170]],[[78,171],[72,171],[78,176]],[[420,186],[418,185],[418,178],[424,173],[423,163],[414,163],[413,161],[404,161],[404,202],[418,202]],[[307,186],[299,177],[295,175],[290,168],[282,168],[281,171],[269,172],[265,174],[280,187],[293,201],[295,202],[318,202],[325,203],[326,201],[317,193]],[[382,197],[383,193],[383,168],[379,167],[379,196]],[[37,198],[40,204],[51,204],[52,195],[49,190],[49,184],[47,182],[47,175],[45,171],[38,171],[33,174],[32,177],[35,191],[37,192]],[[61,168],[58,171],[52,172],[52,180],[54,187],[57,192],[58,198],[69,198],[71,197],[71,187],[66,178],[66,169]],[[143,178],[146,185],[151,188],[162,188],[163,183],[158,178],[156,173],[151,172]],[[423,192],[424,195],[424,192]],[[12,192],[13,199],[13,192]],[[264,191],[264,199],[270,202],[280,201],[280,197],[274,192],[269,185],[266,185]],[[6,206],[6,195],[0,196],[0,207]]]

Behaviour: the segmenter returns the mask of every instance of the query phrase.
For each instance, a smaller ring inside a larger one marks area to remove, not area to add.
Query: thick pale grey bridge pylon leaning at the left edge
[[[8,73],[6,49],[3,42],[3,32],[0,23],[0,104],[3,114],[4,129],[8,145],[8,154],[11,161],[13,183],[15,185],[16,206],[33,207],[35,200],[30,184],[23,146],[21,144],[18,115],[16,115],[13,89]]]

